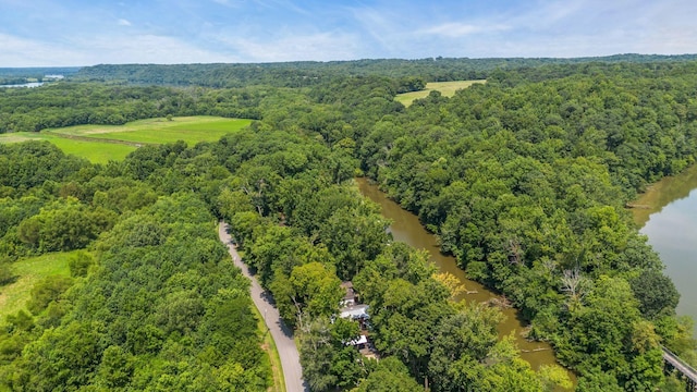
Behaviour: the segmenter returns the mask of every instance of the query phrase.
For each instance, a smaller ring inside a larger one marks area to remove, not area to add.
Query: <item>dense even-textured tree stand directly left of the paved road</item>
[[[66,206],[83,205],[57,201],[38,216]],[[98,267],[90,269],[85,253],[71,260],[73,275],[91,270],[75,289],[66,292],[73,281],[62,277],[35,285],[27,307],[40,315],[36,323],[23,314],[8,319],[9,334],[0,335],[3,384],[266,390],[270,372],[248,283],[232,268],[200,199],[178,194],[126,213],[96,248]]]

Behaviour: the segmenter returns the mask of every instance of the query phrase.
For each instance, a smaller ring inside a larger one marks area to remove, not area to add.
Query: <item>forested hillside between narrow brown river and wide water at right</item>
[[[614,371],[600,384],[647,390],[661,382],[661,360],[655,327],[640,319],[673,316],[677,295],[623,208],[695,161],[697,118],[687,113],[696,70],[500,71],[383,118],[358,154],[472,278],[512,299],[562,363],[582,376]]]

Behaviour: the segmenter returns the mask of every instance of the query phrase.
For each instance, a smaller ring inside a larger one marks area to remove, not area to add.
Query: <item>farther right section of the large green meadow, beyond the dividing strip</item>
[[[148,119],[124,125],[77,125],[50,130],[53,133],[83,137],[124,140],[131,143],[174,143],[184,140],[193,146],[198,142],[217,142],[223,135],[237,132],[252,123],[245,119],[216,117],[185,117]]]

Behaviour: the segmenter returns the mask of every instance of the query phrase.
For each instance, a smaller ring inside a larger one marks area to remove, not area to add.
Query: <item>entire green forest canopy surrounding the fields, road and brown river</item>
[[[550,342],[578,375],[578,391],[684,389],[663,373],[659,344],[695,364],[692,320],[676,317],[678,293],[625,204],[695,162],[697,63],[627,60],[492,65],[480,71],[486,84],[409,108],[394,96],[442,70],[337,68],[297,88],[296,73],[283,79],[289,69],[269,65],[254,71],[260,79],[221,75],[231,88],[93,81],[0,90],[0,110],[26,120],[3,115],[4,132],[58,126],[35,121],[71,110],[61,125],[94,113],[258,120],[218,143],[145,146],[106,166],[48,144],[0,145],[2,281],[22,258],[85,249],[71,278],[41,282],[29,313],[4,321],[0,382],[266,390],[247,285],[216,238],[224,219],[295,328],[313,391],[568,387],[559,367],[534,371],[510,336],[499,339],[498,308],[454,302],[461,287],[423,250],[392,243],[389,222],[353,183],[366,175],[417,213],[469,277],[521,310],[529,338]],[[216,66],[181,68],[204,75]],[[279,81],[250,84],[269,75]],[[179,77],[158,83],[199,83]],[[380,362],[345,344],[358,326],[335,318],[344,280],[370,305]]]

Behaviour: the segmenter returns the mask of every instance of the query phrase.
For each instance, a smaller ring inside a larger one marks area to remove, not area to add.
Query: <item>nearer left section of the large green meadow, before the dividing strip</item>
[[[0,143],[20,143],[26,140],[48,140],[63,152],[86,158],[93,163],[107,163],[110,160],[122,160],[131,151],[136,149],[136,147],[127,145],[99,140],[74,140],[38,132],[0,134]]]

